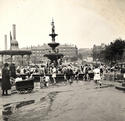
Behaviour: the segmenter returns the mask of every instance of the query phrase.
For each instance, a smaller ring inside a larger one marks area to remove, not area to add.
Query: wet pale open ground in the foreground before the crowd
[[[125,93],[114,82],[104,83],[103,88],[80,81],[43,89],[37,83],[32,93],[0,96],[1,120],[124,121]]]

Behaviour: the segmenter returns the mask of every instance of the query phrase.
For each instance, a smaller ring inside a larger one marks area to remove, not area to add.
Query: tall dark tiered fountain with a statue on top
[[[49,51],[49,53],[45,54],[44,56],[50,60],[50,64],[53,63],[57,67],[59,65],[58,60],[63,57],[63,54],[59,53],[59,50],[56,49],[56,47],[59,46],[59,43],[55,42],[55,37],[58,36],[58,34],[55,33],[55,25],[53,20],[51,25],[52,33],[49,34],[49,36],[52,37],[52,42],[48,43],[49,47],[51,47],[51,51]]]

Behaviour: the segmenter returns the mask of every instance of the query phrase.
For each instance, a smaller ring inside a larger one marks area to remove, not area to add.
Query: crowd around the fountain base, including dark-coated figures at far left
[[[30,65],[30,66],[15,66],[15,64],[5,63],[2,69],[1,89],[2,95],[8,95],[8,90],[11,89],[12,80],[33,78],[33,75],[40,76],[40,85],[48,87],[49,84],[58,82],[57,76],[62,75],[67,84],[72,84],[74,80],[77,82],[81,79],[84,81],[94,80],[95,83],[101,86],[101,80],[104,78],[104,73],[112,71],[113,68],[106,67],[103,64],[85,64],[74,66],[73,64],[51,66],[46,65]],[[25,78],[22,78],[25,77]],[[42,87],[42,86],[41,86]]]

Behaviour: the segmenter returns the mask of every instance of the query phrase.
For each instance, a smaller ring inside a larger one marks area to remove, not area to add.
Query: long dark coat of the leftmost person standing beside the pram
[[[1,86],[2,86],[2,90],[11,89],[9,70],[6,67],[2,69],[2,85]]]

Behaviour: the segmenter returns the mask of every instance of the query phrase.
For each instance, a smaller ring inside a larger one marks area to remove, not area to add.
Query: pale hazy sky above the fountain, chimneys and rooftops
[[[0,49],[4,35],[16,24],[19,47],[51,42],[52,18],[56,42],[92,48],[125,39],[125,0],[0,0]]]

